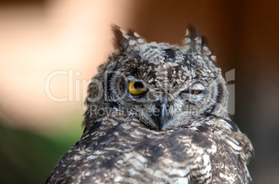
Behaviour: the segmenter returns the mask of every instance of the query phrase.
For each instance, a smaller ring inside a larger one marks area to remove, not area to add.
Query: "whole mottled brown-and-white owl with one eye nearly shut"
[[[227,113],[216,57],[194,28],[183,46],[113,26],[92,78],[83,135],[47,183],[248,183],[253,146]]]

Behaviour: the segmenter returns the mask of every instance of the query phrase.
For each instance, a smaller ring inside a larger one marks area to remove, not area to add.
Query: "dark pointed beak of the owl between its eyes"
[[[153,115],[153,120],[158,125],[158,129],[162,130],[166,122],[169,121],[169,102],[167,101],[167,95],[163,93],[162,100],[156,102],[156,107],[159,109],[159,113]]]

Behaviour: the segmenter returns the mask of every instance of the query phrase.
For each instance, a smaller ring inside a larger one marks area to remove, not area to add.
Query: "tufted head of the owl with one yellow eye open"
[[[201,116],[228,116],[226,82],[196,30],[186,30],[183,46],[146,42],[118,26],[112,30],[115,52],[90,84],[89,118],[125,111],[162,131]]]

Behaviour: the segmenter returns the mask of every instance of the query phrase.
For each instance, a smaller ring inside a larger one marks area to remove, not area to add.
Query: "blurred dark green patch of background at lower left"
[[[82,131],[81,120],[44,133],[6,127],[0,121],[0,183],[45,183]]]

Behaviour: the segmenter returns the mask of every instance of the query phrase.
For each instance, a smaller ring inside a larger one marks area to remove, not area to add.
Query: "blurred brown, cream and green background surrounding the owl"
[[[278,8],[260,0],[0,0],[0,183],[44,183],[80,138],[86,82],[112,50],[110,24],[171,44],[194,24],[223,75],[235,69],[231,118],[255,147],[253,183],[278,183]],[[66,102],[45,92],[55,71],[66,75],[53,77],[50,91]]]

